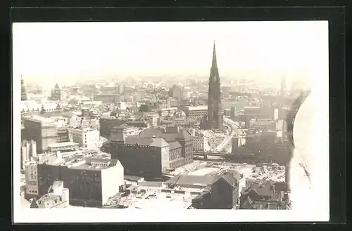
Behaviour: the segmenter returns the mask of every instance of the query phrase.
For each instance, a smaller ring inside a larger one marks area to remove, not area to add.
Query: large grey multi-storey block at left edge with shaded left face
[[[34,140],[37,144],[37,152],[48,150],[57,140],[56,124],[54,120],[32,116],[23,118],[23,140]]]

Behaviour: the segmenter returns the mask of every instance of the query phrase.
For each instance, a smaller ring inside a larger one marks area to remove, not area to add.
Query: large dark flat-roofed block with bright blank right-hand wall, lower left
[[[69,190],[70,204],[76,206],[100,207],[124,184],[123,166],[115,159],[63,159],[57,154],[42,157],[36,165],[37,196],[47,194],[54,181],[62,180]]]

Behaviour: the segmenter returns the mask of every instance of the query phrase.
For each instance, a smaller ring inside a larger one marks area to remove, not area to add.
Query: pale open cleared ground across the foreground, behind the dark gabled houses
[[[192,199],[210,190],[222,173],[237,171],[251,182],[284,181],[284,166],[277,164],[232,164],[194,161],[176,169],[165,182],[126,182],[125,189],[111,197],[103,208],[190,209]]]

